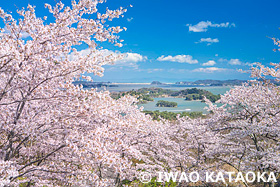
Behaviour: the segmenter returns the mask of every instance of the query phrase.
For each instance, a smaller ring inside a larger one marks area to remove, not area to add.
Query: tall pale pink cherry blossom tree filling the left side
[[[105,23],[126,9],[102,14],[103,2],[46,4],[53,22],[31,5],[18,20],[0,9],[0,186],[113,186],[165,169],[170,124],[143,114],[133,97],[73,84],[121,58],[98,46],[122,45],[117,34],[126,28]],[[88,55],[76,50],[81,44]]]

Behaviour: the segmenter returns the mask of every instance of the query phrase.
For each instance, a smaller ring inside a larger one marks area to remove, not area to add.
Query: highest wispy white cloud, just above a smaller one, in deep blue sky
[[[196,25],[187,24],[187,26],[189,27],[190,32],[206,32],[208,27],[235,27],[235,24],[230,24],[229,22],[216,24],[211,21],[201,21]]]

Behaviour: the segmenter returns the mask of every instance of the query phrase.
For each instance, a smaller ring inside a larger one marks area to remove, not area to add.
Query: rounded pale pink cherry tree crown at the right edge
[[[223,95],[222,107],[210,104],[207,124],[222,141],[209,154],[238,171],[279,172],[279,99],[278,86],[253,82]]]

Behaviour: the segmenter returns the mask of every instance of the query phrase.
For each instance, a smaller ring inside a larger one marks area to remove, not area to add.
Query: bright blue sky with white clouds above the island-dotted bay
[[[1,1],[0,6],[14,12],[30,3],[43,16],[46,2],[55,1]],[[237,70],[254,62],[279,63],[280,53],[272,51],[276,46],[269,39],[280,36],[279,0],[108,0],[100,9],[130,4],[125,17],[112,22],[127,27],[120,34],[124,46],[103,45],[126,57],[105,66],[104,77],[96,81],[248,79]]]

